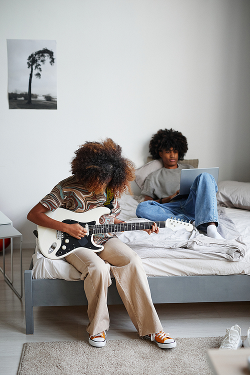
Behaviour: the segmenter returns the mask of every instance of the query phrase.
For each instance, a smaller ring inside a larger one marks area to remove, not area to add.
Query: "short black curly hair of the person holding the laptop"
[[[171,147],[178,151],[178,159],[183,160],[188,147],[186,137],[180,131],[160,129],[149,142],[149,152],[153,159],[159,159],[159,151],[168,150]]]

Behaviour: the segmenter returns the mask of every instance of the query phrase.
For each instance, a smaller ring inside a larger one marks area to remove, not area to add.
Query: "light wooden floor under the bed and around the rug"
[[[32,252],[23,249],[23,270],[28,269]],[[18,277],[14,280],[17,286]],[[172,337],[223,336],[225,329],[234,324],[246,335],[250,326],[250,302],[175,303],[155,307],[165,332]],[[107,339],[137,337],[123,305],[109,306],[109,312]],[[16,374],[24,342],[86,340],[87,323],[86,306],[34,307],[34,334],[26,335],[24,299],[18,299],[0,272],[1,375]]]

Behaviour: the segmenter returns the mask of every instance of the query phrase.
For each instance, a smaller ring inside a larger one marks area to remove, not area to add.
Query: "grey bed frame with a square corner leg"
[[[33,306],[87,305],[83,281],[33,279],[24,271],[26,334],[33,334]],[[148,277],[153,303],[226,302],[250,300],[250,275]],[[122,304],[115,280],[108,304]]]

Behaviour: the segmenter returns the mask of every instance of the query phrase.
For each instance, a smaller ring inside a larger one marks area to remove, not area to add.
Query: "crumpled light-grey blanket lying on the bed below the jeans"
[[[223,207],[218,209],[218,217],[218,232],[225,239],[207,237],[195,227],[191,232],[161,228],[158,234],[152,233],[150,237],[143,231],[124,232],[118,237],[141,258],[241,260],[246,254],[247,245]]]

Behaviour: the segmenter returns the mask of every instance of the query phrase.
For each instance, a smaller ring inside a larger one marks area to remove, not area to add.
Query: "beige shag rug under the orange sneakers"
[[[141,338],[108,340],[104,347],[85,341],[28,342],[17,375],[211,375],[206,351],[218,348],[222,339],[176,338],[172,349]]]

